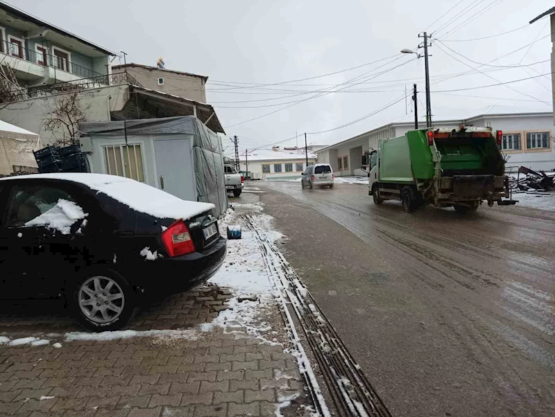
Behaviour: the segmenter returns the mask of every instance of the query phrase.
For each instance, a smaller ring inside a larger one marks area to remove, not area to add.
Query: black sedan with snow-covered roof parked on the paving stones
[[[64,297],[87,328],[122,328],[221,267],[213,207],[112,175],[0,179],[0,299]]]

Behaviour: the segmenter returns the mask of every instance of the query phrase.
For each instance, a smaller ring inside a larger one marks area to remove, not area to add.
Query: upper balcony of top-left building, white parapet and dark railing
[[[50,55],[46,51],[32,51],[19,43],[0,42],[0,62],[13,70],[15,78],[28,85],[70,82],[96,78],[104,74],[71,62],[67,57]]]

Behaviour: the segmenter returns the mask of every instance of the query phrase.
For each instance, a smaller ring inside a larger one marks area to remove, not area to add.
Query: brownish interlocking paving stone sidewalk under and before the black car
[[[288,340],[277,305],[266,305],[262,319],[272,323],[279,343],[244,327],[204,324],[225,312],[231,298],[210,284],[171,296],[130,328],[190,329],[190,335],[114,340],[66,341],[66,332],[83,330],[61,307],[41,316],[29,311],[31,303],[1,305],[0,336],[49,344],[0,344],[0,417],[308,416],[296,358],[284,353]],[[199,330],[203,324],[207,331]]]

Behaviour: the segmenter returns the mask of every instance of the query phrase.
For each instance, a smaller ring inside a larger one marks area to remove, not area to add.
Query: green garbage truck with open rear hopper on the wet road
[[[491,127],[429,127],[382,139],[363,156],[368,163],[368,195],[375,204],[402,202],[411,212],[425,204],[475,211],[486,201],[506,204],[509,179],[499,145],[502,132]],[[511,201],[511,204],[514,202]]]

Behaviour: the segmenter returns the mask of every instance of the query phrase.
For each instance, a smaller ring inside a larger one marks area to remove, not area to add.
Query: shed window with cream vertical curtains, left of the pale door
[[[103,146],[106,173],[144,182],[142,148],[139,143]]]

